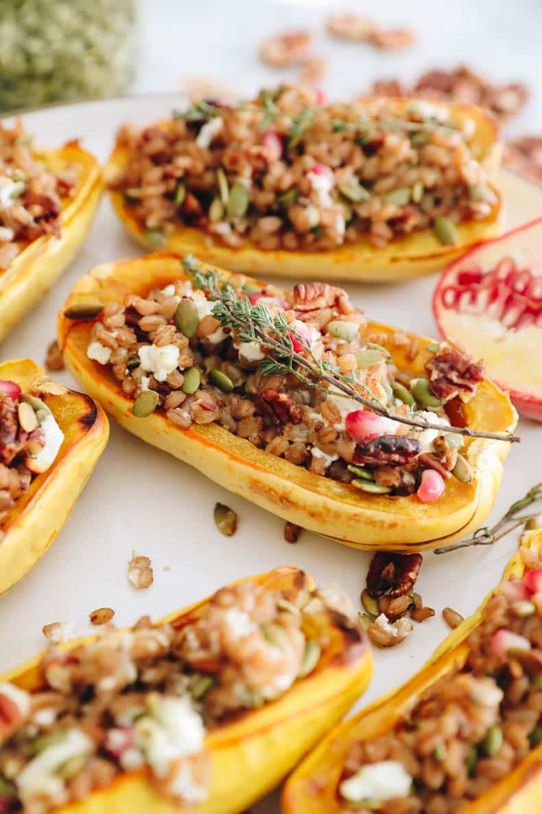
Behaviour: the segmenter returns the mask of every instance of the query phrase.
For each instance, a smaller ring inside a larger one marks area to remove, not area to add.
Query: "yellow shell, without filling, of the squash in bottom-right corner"
[[[524,545],[542,557],[542,530],[531,532]],[[503,579],[521,576],[522,559],[516,554],[505,568]],[[387,732],[403,712],[441,676],[462,667],[468,648],[466,638],[479,624],[491,593],[474,615],[444,639],[431,659],[410,681],[379,698],[357,716],[340,724],[293,772],[282,798],[284,814],[339,814],[344,810],[336,799],[336,787],[349,747],[355,740],[371,740]],[[457,814],[540,814],[542,812],[542,745],[530,752],[522,764],[486,794]]]

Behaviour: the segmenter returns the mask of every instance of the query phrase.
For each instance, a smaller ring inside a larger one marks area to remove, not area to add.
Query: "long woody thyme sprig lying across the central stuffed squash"
[[[334,396],[347,396],[359,402],[374,413],[392,418],[401,424],[418,427],[421,430],[438,430],[440,433],[453,432],[476,438],[492,438],[501,441],[519,441],[518,435],[512,433],[484,432],[473,430],[470,427],[453,427],[448,424],[437,424],[427,421],[427,418],[392,414],[374,396],[362,396],[357,388],[359,383],[350,376],[340,373],[336,365],[327,361],[316,359],[301,336],[286,322],[284,312],[279,311],[275,316],[262,302],[253,305],[248,297],[240,297],[235,289],[224,281],[220,284],[219,273],[213,269],[204,269],[202,264],[192,255],[183,259],[183,267],[190,274],[193,285],[209,293],[210,300],[215,301],[213,316],[218,319],[223,328],[235,330],[241,342],[258,342],[263,348],[270,351],[263,370],[267,374],[293,374],[302,382],[311,387],[324,389],[323,382],[333,387]],[[303,345],[309,358],[301,356],[293,348],[292,335]],[[329,392],[328,388],[325,388]]]

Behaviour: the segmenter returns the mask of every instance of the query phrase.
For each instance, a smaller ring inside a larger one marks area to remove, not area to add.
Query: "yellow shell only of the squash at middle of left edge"
[[[36,565],[63,527],[106,446],[109,422],[89,396],[52,383],[30,359],[0,363],[0,379],[16,382],[23,392],[45,401],[64,433],[52,466],[33,479],[0,521],[1,594]]]

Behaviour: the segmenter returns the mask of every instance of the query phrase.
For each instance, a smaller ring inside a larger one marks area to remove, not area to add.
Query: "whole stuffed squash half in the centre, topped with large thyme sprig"
[[[482,365],[367,322],[340,288],[283,290],[188,256],[93,269],[59,315],[59,343],[129,431],[366,549],[436,547],[478,527],[517,419]],[[497,435],[466,438],[463,425]]]

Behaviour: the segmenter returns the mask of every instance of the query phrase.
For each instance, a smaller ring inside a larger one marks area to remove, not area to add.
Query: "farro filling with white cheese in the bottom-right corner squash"
[[[488,602],[464,667],[392,732],[353,743],[337,788],[345,812],[453,814],[542,742],[542,568],[532,564]]]

